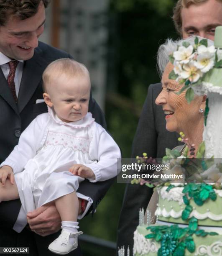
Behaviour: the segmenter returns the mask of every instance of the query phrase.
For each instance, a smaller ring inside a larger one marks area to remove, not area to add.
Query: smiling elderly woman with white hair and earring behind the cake
[[[176,131],[177,133],[182,131],[185,137],[189,138],[189,144],[194,144],[195,148],[198,148],[203,140],[204,109],[207,96],[195,95],[194,100],[188,103],[185,98],[186,90],[178,94],[184,84],[179,84],[176,80],[169,79],[169,74],[174,69],[174,65],[169,61],[169,55],[176,51],[177,46],[182,45],[184,41],[194,45],[194,39],[194,36],[179,41],[168,39],[165,44],[159,47],[157,63],[159,74],[162,76],[162,91],[156,98],[156,104],[162,106],[166,114],[166,129],[172,132]],[[199,37],[199,40],[201,39]],[[208,40],[208,46],[210,45],[213,45],[213,41]],[[183,154],[185,147],[186,144],[178,146],[176,149]],[[148,205],[151,216],[154,216],[157,201],[158,194],[155,191]]]

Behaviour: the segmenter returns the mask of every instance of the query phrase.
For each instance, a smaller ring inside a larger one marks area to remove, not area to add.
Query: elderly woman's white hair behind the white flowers
[[[191,36],[186,39],[180,39],[175,41],[171,38],[168,38],[166,39],[166,42],[164,44],[161,44],[157,52],[157,70],[160,77],[162,77],[166,64],[169,62],[169,55],[177,50],[177,46],[182,45],[185,41],[189,42],[191,45],[194,45],[194,40],[196,37],[198,37],[199,41],[202,39],[206,39],[200,36]],[[214,45],[214,42],[209,39],[207,39],[207,43],[208,46]]]

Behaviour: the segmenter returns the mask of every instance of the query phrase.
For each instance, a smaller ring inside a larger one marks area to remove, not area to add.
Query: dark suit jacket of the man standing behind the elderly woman
[[[155,104],[156,97],[161,92],[161,83],[151,84],[140,115],[137,131],[133,140],[132,158],[142,156],[162,158],[165,148],[179,145],[177,133],[166,130],[165,115],[161,106]],[[133,248],[133,232],[138,226],[138,213],[141,207],[146,209],[153,189],[147,186],[127,184],[120,213],[117,246]]]

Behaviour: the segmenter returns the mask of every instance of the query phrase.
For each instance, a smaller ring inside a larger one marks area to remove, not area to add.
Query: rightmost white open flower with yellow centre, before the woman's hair
[[[206,73],[212,67],[214,67],[214,53],[216,49],[214,46],[206,47],[204,45],[198,46],[197,57],[194,62],[195,66],[201,70],[201,72]]]

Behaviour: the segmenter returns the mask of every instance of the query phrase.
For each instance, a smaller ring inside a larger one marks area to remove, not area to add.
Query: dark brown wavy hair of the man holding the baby
[[[45,8],[50,3],[50,0],[0,0],[0,26],[5,26],[9,16],[20,20],[32,17],[41,1]]]

